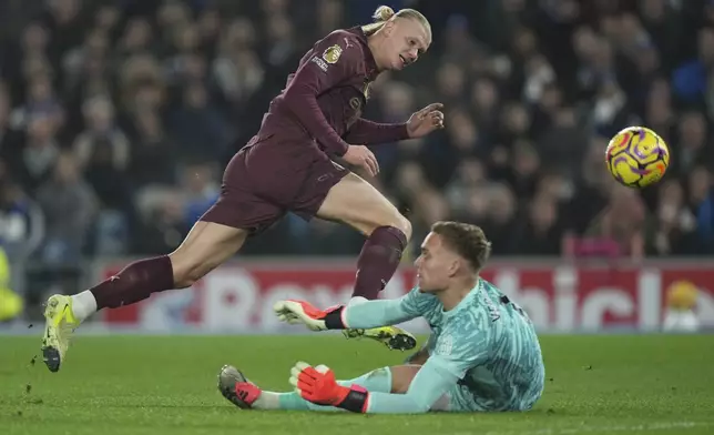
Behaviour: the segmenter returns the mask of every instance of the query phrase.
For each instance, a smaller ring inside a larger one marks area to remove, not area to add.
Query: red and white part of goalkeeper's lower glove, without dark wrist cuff
[[[335,372],[325,365],[298,362],[290,370],[290,384],[304,399],[317,405],[339,406],[350,388],[337,384]]]

